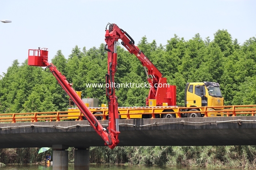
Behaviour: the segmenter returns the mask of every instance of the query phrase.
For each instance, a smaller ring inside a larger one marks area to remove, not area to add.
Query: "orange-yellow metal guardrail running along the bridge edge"
[[[133,114],[152,114],[152,118],[155,118],[155,114],[176,114],[177,118],[181,118],[182,113],[201,113],[204,114],[204,117],[208,117],[210,113],[221,113],[225,116],[255,116],[256,114],[256,105],[235,105],[235,106],[214,106],[214,108],[221,108],[220,110],[208,110],[208,107],[193,107],[203,111],[184,111],[186,107],[168,107],[164,109],[173,110],[174,112],[159,112],[163,110],[162,107],[143,107],[143,108],[118,108],[118,111],[123,111],[119,115],[127,115],[127,118],[130,118],[130,115]],[[224,109],[223,109],[224,108]],[[139,111],[144,110],[146,112],[141,113]],[[134,111],[138,111],[138,113]],[[131,113],[131,111],[133,113]],[[107,119],[107,109],[101,110],[102,114],[97,114],[97,116],[102,116],[102,119]],[[75,113],[68,115],[68,113]],[[17,123],[17,122],[51,122],[51,121],[65,121],[72,120],[69,117],[77,117],[76,120],[83,120],[83,114],[77,111],[63,111],[63,112],[34,112],[34,113],[0,113],[0,122],[3,123]]]

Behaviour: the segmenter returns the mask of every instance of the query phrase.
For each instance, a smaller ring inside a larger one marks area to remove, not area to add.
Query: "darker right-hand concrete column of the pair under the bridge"
[[[75,170],[89,170],[90,150],[75,149]]]

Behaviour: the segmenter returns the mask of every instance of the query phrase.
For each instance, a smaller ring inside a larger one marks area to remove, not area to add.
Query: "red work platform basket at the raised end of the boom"
[[[38,66],[38,67],[47,67],[44,60],[48,61],[48,48],[38,48],[38,49],[29,49],[28,50],[28,60],[27,65],[29,66]]]

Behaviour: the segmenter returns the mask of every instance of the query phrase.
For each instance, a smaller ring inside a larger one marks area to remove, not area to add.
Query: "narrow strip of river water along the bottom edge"
[[[53,170],[51,165],[5,165],[0,170]],[[69,165],[69,170],[76,170],[74,165]],[[81,169],[80,169],[81,170]],[[86,169],[84,169],[86,170]],[[88,170],[88,169],[87,169]],[[220,168],[191,168],[191,167],[159,167],[141,165],[90,165],[90,170],[239,170]]]

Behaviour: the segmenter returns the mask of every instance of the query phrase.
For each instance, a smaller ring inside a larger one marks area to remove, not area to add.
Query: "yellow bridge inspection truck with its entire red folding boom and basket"
[[[107,26],[109,28],[107,29]],[[185,88],[185,104],[188,108],[176,106],[176,86],[166,86],[166,77],[155,67],[144,53],[134,45],[134,41],[127,32],[120,29],[116,24],[107,24],[105,34],[105,50],[107,51],[108,71],[106,74],[106,97],[108,107],[88,108],[78,93],[72,88],[72,83],[66,80],[59,70],[48,62],[48,49],[38,48],[28,50],[28,65],[46,67],[52,72],[57,82],[76,104],[77,110],[91,124],[96,133],[105,141],[105,145],[113,149],[119,143],[118,135],[120,118],[176,118],[176,117],[201,117],[208,116],[205,109],[216,110],[223,105],[223,97],[219,90],[219,84],[215,82],[187,83]],[[121,39],[121,44],[134,54],[142,63],[149,82],[149,95],[146,99],[147,107],[118,108],[117,96],[115,95],[114,77],[117,71],[117,41]],[[164,86],[165,84],[165,86]],[[214,92],[211,94],[211,92]],[[217,93],[218,92],[218,93]],[[211,108],[197,108],[211,104]],[[195,108],[193,108],[195,107]],[[76,112],[76,111],[75,111]],[[183,113],[180,113],[183,112]],[[71,111],[70,111],[71,113]],[[73,112],[74,113],[74,112]],[[216,116],[213,112],[213,116]],[[220,112],[221,113],[221,112]],[[97,117],[95,117],[95,115]],[[217,114],[218,116],[218,114]],[[81,117],[81,116],[80,116]],[[102,127],[99,119],[108,119],[108,130]]]

